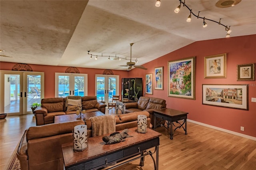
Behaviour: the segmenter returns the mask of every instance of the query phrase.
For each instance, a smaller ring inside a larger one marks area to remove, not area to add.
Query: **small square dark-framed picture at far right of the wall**
[[[237,65],[237,81],[255,80],[255,63]]]

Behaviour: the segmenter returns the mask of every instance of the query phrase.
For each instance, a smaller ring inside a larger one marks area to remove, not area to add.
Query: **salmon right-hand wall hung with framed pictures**
[[[227,54],[227,73],[223,79],[204,79],[204,57]],[[168,61],[196,56],[196,100],[168,97]],[[256,35],[222,38],[194,42],[176,51],[168,53],[143,66],[148,70],[130,71],[130,77],[145,77],[146,73],[154,73],[154,67],[164,66],[164,90],[153,90],[153,95],[166,100],[167,107],[188,112],[188,119],[224,128],[234,132],[256,137],[256,81],[237,81],[238,64],[256,63]],[[145,85],[145,78],[143,79]],[[249,110],[231,109],[202,105],[202,84],[249,84]],[[244,127],[244,132],[240,127]]]

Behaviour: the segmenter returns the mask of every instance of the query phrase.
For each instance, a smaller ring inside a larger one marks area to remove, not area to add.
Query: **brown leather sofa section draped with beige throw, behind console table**
[[[152,128],[150,125],[149,113],[147,111],[140,111],[134,113],[127,113],[122,115],[115,115],[116,118],[116,131],[124,130],[126,128],[137,127],[137,118],[138,115],[146,115],[147,116],[147,124],[148,128]],[[92,122],[90,119],[85,120],[85,124],[87,125],[87,135],[92,137]]]

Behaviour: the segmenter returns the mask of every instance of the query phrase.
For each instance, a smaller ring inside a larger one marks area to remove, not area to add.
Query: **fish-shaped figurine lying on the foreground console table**
[[[115,144],[119,142],[125,141],[125,138],[132,137],[128,134],[129,130],[126,128],[121,133],[120,132],[114,132],[110,134],[110,136],[103,136],[102,140],[106,142],[106,144]]]

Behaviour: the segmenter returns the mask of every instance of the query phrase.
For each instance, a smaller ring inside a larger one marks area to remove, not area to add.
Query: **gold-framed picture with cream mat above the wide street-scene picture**
[[[226,53],[204,57],[204,78],[226,78]]]

